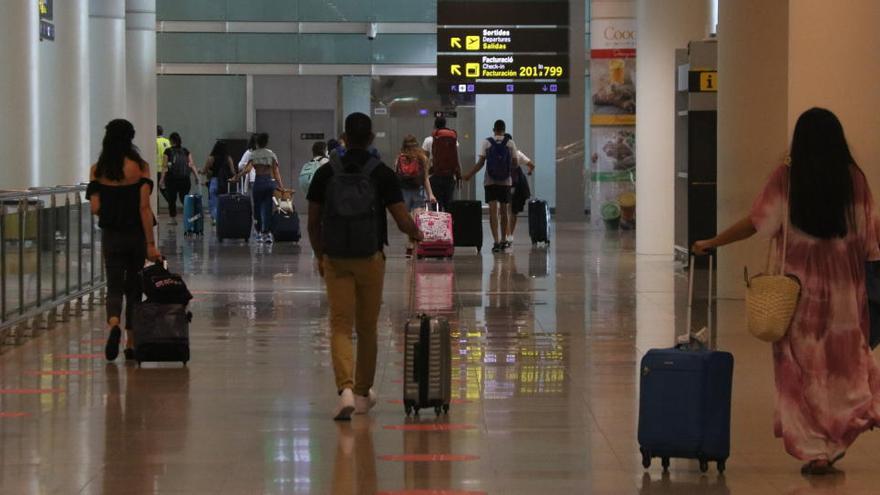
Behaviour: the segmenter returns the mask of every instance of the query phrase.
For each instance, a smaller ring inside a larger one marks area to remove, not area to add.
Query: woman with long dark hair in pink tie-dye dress
[[[775,430],[789,454],[807,461],[805,473],[823,474],[880,423],[880,368],[868,346],[865,291],[865,262],[880,259],[874,202],[828,110],[801,115],[790,166],[773,172],[748,217],[697,242],[695,251],[760,233],[777,238],[781,255],[787,203],[786,272],[802,289],[788,333],[773,344]]]

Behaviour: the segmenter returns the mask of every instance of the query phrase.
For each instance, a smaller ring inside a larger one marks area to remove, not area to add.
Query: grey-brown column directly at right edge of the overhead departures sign
[[[569,2],[569,55],[570,87],[568,95],[556,98],[556,149],[577,149],[584,142],[587,123],[586,94],[586,23],[587,8],[584,0]],[[557,153],[556,161],[556,219],[585,222],[584,179],[587,157],[585,153]]]

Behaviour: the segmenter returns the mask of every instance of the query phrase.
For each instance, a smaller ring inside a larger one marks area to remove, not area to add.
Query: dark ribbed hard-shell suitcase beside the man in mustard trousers
[[[419,315],[404,334],[403,405],[406,414],[433,408],[449,412],[452,397],[452,341],[446,318]]]

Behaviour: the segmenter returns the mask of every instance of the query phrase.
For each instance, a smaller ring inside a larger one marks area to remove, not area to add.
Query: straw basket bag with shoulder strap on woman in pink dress
[[[791,319],[801,296],[801,283],[797,277],[785,273],[785,255],[788,250],[788,198],[785,202],[785,220],[782,225],[782,256],[776,269],[770,269],[770,257],[776,247],[771,242],[767,252],[764,273],[746,278],[746,316],[749,332],[764,342],[776,342],[788,332]]]

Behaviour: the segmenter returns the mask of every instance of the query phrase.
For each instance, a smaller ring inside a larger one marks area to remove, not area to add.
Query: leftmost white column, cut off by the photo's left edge
[[[5,1],[0,29],[0,150],[6,155],[0,162],[0,175],[4,189],[40,182],[38,44],[37,4]]]

